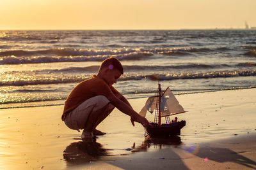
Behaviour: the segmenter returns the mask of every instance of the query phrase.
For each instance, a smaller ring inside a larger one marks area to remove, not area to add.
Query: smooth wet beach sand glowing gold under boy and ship
[[[99,125],[107,134],[88,143],[61,121],[63,106],[0,110],[0,169],[255,169],[255,96],[177,96],[189,112],[177,115],[186,127],[172,139],[145,138],[118,110]],[[140,111],[146,100],[129,101]]]

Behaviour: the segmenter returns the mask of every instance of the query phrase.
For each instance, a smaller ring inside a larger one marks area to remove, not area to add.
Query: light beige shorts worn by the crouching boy
[[[106,111],[113,110],[114,106],[110,104],[110,101],[105,96],[95,96],[92,97],[79,106],[77,106],[74,110],[68,113],[67,117],[65,118],[64,122],[70,129],[74,129],[79,131],[79,129],[84,129],[88,117],[93,112],[100,110],[104,106],[108,105]],[[79,131],[80,132],[80,131]]]

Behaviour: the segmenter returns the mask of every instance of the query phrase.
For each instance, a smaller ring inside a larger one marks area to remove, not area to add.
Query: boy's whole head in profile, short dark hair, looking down
[[[111,87],[118,78],[124,74],[124,68],[118,59],[110,57],[104,60],[100,66],[98,76]]]

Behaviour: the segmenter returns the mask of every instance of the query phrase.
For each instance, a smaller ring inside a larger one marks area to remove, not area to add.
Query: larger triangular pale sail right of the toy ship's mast
[[[174,115],[177,113],[184,113],[184,109],[180,106],[179,101],[171,92],[168,87],[163,96],[161,97],[161,117],[166,117],[168,115]]]

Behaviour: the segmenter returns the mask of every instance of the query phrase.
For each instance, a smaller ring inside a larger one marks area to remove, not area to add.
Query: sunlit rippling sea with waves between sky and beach
[[[108,57],[127,99],[256,87],[256,30],[0,31],[0,109],[63,105]]]

